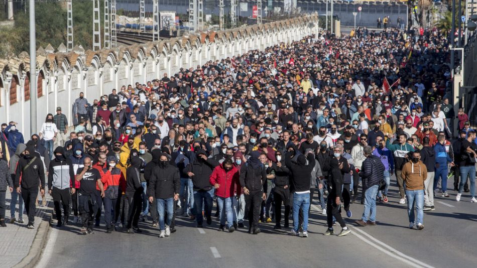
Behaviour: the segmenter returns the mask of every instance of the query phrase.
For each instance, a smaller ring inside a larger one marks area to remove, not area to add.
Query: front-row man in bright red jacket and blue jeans
[[[228,232],[235,231],[233,227],[232,199],[234,192],[240,195],[239,170],[233,166],[232,158],[226,158],[223,163],[215,167],[210,176],[210,184],[215,188],[217,196],[218,213],[220,216],[219,231],[225,228],[227,217]]]

